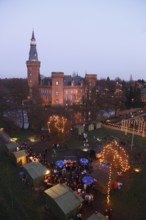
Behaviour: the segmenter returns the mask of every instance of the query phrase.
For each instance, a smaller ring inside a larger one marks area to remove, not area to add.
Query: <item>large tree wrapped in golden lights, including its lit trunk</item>
[[[113,172],[122,174],[128,171],[130,168],[129,159],[124,148],[121,147],[116,140],[114,140],[104,146],[101,152],[101,163],[106,163],[109,165],[109,178],[107,187],[107,205],[109,206],[112,174]]]

